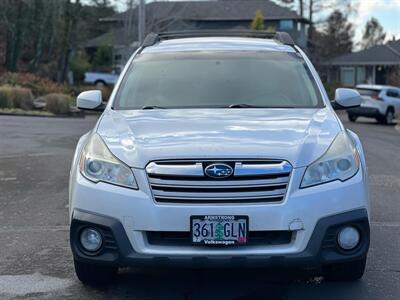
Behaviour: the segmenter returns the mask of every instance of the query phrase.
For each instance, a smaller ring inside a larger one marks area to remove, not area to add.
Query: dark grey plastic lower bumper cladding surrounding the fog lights
[[[355,226],[361,235],[359,245],[352,251],[342,251],[336,242],[337,232],[343,226]],[[105,239],[103,247],[95,254],[85,252],[79,244],[79,232],[84,227],[98,229]],[[113,266],[223,266],[223,267],[307,267],[360,260],[366,257],[370,230],[366,209],[357,209],[320,219],[300,253],[275,255],[148,255],[135,252],[124,226],[117,219],[74,210],[71,222],[70,243],[74,259]],[[218,250],[217,250],[218,251]]]

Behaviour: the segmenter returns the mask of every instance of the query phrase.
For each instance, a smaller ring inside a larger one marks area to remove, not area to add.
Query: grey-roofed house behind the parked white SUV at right
[[[347,87],[360,83],[400,86],[400,40],[345,54],[323,65],[329,83]]]

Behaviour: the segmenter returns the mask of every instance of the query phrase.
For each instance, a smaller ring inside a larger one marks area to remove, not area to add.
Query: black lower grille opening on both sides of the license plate
[[[245,246],[286,245],[292,241],[292,231],[249,231]],[[191,246],[190,232],[147,231],[147,241],[154,246]],[[241,246],[241,247],[243,247]]]

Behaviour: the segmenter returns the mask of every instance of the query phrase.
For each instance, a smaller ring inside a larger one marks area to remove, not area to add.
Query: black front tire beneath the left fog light
[[[83,263],[74,260],[75,273],[78,279],[88,285],[100,285],[112,282],[117,273],[117,267],[105,267]]]

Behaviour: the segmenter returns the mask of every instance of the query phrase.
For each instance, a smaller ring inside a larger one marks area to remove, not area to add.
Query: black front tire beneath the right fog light
[[[323,276],[328,281],[356,281],[364,275],[367,259],[325,266]]]

